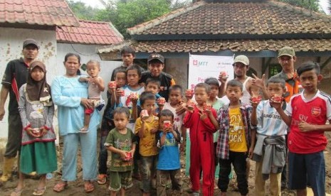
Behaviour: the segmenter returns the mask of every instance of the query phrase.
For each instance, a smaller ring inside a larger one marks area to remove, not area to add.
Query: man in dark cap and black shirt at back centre
[[[168,101],[169,98],[169,87],[175,85],[174,78],[163,72],[164,69],[164,57],[160,54],[151,54],[147,60],[148,71],[142,72],[142,78],[140,83],[146,83],[148,78],[154,78],[161,82],[161,87],[159,89],[159,95],[164,97]]]

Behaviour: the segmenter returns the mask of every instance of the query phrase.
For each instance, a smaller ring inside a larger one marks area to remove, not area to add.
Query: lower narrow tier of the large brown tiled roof
[[[122,46],[130,45],[136,53],[204,53],[231,50],[233,52],[278,51],[287,45],[296,52],[330,51],[331,39],[286,40],[140,40],[99,49],[99,53],[116,53]]]

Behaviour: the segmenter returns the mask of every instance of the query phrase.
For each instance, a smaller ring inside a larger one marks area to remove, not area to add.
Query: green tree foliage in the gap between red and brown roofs
[[[105,9],[93,9],[82,2],[67,1],[70,9],[81,19],[111,21],[125,38],[127,28],[189,6],[191,0],[99,0]]]

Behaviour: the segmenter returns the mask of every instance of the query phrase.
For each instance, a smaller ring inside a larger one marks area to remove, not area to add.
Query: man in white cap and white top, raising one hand
[[[233,61],[233,70],[236,77],[235,80],[243,83],[243,96],[241,102],[245,104],[251,104],[251,95],[259,94],[259,87],[252,84],[252,77],[246,75],[249,70],[249,60],[246,55],[238,55]],[[223,97],[226,92],[226,79],[219,73],[219,81],[221,85],[219,87],[219,97]]]

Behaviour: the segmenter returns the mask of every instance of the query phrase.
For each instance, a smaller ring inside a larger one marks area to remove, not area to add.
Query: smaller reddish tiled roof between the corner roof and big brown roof
[[[79,21],[79,27],[56,28],[60,43],[112,45],[123,41],[123,36],[110,22]]]

